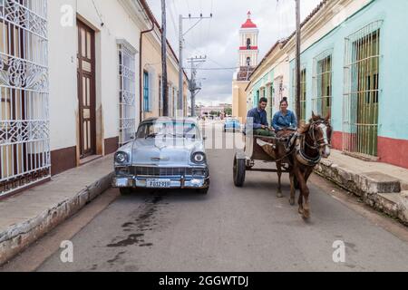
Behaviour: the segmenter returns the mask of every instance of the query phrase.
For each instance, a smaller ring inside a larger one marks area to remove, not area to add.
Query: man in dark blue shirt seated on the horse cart
[[[269,128],[267,123],[267,99],[259,100],[257,108],[248,111],[247,123],[253,124],[254,135],[257,136],[275,136],[273,129]]]

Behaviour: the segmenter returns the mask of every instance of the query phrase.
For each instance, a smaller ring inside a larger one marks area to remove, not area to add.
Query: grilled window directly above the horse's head
[[[324,117],[332,111],[332,55],[332,50],[320,53],[313,65],[313,110]]]

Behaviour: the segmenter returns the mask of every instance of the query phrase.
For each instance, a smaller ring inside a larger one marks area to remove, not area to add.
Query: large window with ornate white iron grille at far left
[[[0,1],[0,196],[50,177],[47,1]]]

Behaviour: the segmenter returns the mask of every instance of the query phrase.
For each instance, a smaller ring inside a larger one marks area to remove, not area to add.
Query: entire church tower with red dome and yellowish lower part
[[[259,49],[257,46],[259,30],[257,24],[251,20],[251,13],[248,12],[247,22],[241,25],[239,30],[238,49],[238,71],[234,74],[232,81],[232,114],[235,117],[246,121],[248,102],[245,89],[248,86],[248,79],[257,66]]]

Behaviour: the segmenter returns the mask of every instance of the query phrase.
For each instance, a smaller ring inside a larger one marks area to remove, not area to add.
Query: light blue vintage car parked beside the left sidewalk
[[[209,166],[196,121],[152,118],[141,122],[135,139],[116,151],[112,187],[209,191]]]

